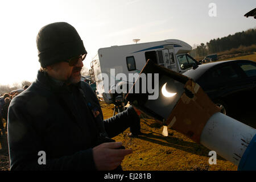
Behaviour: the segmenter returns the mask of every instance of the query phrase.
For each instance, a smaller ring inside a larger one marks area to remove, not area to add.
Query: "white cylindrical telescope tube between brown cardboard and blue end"
[[[222,113],[215,113],[207,121],[200,143],[238,166],[255,134],[256,130],[252,127]]]

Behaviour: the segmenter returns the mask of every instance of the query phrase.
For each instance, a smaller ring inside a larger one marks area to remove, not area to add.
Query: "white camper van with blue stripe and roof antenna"
[[[114,69],[115,75],[125,73],[128,76],[129,73],[139,73],[148,59],[175,72],[183,73],[199,64],[188,54],[191,50],[189,44],[176,39],[100,48],[92,61],[97,91],[99,94],[104,93],[106,86],[101,73],[107,74],[109,78],[113,77],[110,75],[110,69]],[[115,79],[114,84],[112,82],[112,85],[108,85],[108,90],[121,81],[128,82]]]

